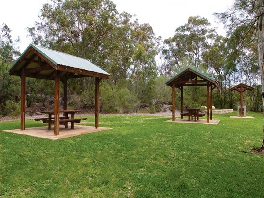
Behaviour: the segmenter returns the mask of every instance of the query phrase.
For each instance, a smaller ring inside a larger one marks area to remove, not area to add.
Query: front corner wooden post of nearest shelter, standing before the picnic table
[[[60,131],[60,76],[55,72],[55,91],[54,91],[54,135],[59,135]]]

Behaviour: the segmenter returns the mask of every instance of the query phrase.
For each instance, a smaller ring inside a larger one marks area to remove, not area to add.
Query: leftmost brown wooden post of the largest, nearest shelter
[[[26,76],[25,69],[21,70],[21,111],[20,111],[20,129],[25,130],[25,119],[26,119]]]

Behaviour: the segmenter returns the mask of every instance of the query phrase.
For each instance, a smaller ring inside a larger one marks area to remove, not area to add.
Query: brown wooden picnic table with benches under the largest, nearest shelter
[[[87,118],[78,118],[75,119],[74,115],[75,113],[79,113],[81,110],[60,110],[60,113],[63,113],[63,117],[60,117],[60,124],[64,124],[65,128],[68,128],[68,122],[71,123],[71,129],[74,129],[74,123],[80,123],[81,120],[86,120]],[[51,130],[51,124],[54,123],[54,110],[48,110],[48,111],[40,111],[40,113],[48,114],[49,116],[47,118],[35,118],[36,121],[42,120],[43,123],[48,123],[48,129]],[[69,119],[68,114],[71,114],[71,119]]]

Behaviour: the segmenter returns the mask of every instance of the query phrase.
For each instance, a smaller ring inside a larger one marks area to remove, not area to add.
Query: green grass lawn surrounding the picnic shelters
[[[218,125],[101,116],[112,130],[56,141],[0,132],[0,197],[263,197],[264,156],[248,153],[261,146],[262,114],[230,115],[214,115]]]

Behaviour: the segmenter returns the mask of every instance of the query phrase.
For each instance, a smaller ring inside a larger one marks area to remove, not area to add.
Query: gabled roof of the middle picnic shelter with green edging
[[[204,74],[204,73],[200,72],[199,70],[192,68],[192,67],[186,67],[186,68],[182,69],[176,75],[174,75],[170,79],[168,79],[165,83],[166,83],[166,85],[171,86],[172,82],[174,82],[174,84],[177,84],[177,83],[179,83],[179,81],[181,81],[183,79],[191,80],[196,76],[201,78],[201,79],[204,79],[207,82],[210,82],[211,84],[213,84],[215,86],[218,86],[218,82],[215,79],[213,79],[209,75],[206,75],[206,74]]]

